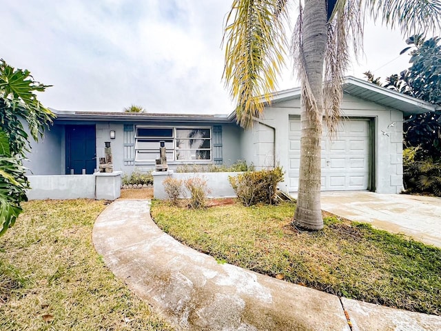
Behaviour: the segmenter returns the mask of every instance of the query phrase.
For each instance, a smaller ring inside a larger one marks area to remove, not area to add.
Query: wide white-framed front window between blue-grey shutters
[[[165,141],[167,161],[211,161],[211,128],[136,127],[135,161],[159,158],[160,141]]]

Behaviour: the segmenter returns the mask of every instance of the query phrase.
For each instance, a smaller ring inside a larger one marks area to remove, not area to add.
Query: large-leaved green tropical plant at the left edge
[[[34,81],[28,70],[15,69],[0,60],[0,235],[14,224],[27,201],[29,188],[21,160],[30,150],[30,135],[37,141],[54,114],[37,99],[35,92],[48,88]]]

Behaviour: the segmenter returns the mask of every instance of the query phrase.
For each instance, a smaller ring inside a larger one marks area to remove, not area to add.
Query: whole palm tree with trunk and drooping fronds
[[[336,134],[343,74],[351,50],[362,46],[366,16],[403,34],[439,28],[441,0],[299,0],[291,37],[291,57],[302,89],[300,176],[293,223],[307,230],[323,227],[320,207],[322,118]],[[284,64],[289,20],[288,0],[234,0],[227,15],[223,43],[223,79],[237,100],[236,117],[243,128],[269,103]]]

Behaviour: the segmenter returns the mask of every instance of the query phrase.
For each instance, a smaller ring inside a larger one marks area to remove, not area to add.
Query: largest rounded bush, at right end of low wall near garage
[[[276,203],[277,184],[283,181],[283,170],[280,166],[272,170],[244,172],[228,180],[240,202],[250,206],[257,203],[271,205]]]

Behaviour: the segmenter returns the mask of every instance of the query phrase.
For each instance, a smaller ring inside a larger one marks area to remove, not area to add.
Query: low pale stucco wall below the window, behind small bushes
[[[228,177],[237,176],[240,172],[182,172],[175,173],[172,170],[164,172],[152,172],[154,178],[153,195],[155,199],[168,199],[164,190],[163,181],[167,177],[174,179],[185,179],[199,177],[207,181],[207,188],[209,189],[208,197],[236,197],[231,185],[229,185]],[[187,194],[188,195],[188,194]]]

